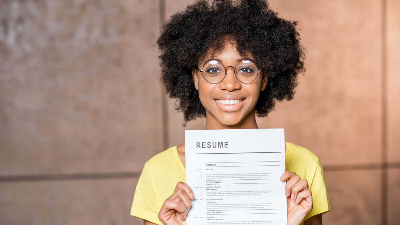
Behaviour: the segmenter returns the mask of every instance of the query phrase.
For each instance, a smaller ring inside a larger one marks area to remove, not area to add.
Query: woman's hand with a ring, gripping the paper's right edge
[[[285,195],[288,209],[288,225],[299,225],[312,209],[312,194],[306,179],[296,173],[286,171],[280,177],[285,181]]]

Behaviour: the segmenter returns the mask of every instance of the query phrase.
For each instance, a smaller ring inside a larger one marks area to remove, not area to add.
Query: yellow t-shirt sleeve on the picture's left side
[[[136,185],[130,215],[158,224],[156,198],[154,196],[151,176],[146,165],[139,177],[138,185]]]

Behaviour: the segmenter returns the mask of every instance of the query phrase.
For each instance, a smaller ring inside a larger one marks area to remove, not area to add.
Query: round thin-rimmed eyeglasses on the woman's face
[[[222,80],[224,80],[226,76],[226,68],[233,68],[236,78],[242,83],[250,83],[255,80],[258,76],[258,72],[261,69],[258,69],[256,64],[251,60],[242,60],[235,67],[233,66],[224,66],[222,63],[216,60],[210,60],[204,64],[203,69],[197,70],[202,72],[204,79],[212,84],[218,84]]]

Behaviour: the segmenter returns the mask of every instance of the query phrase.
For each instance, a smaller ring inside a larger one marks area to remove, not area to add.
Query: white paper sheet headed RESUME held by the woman
[[[284,129],[185,131],[188,225],[287,224]]]

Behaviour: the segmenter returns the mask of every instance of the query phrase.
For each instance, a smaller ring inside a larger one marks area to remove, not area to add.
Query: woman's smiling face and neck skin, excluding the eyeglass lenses
[[[234,67],[244,59],[254,61],[252,54],[240,55],[232,41],[226,41],[220,52],[211,52],[204,56],[198,62],[198,68],[202,69],[204,63],[210,59],[220,61],[225,67]],[[202,72],[193,70],[192,75],[200,101],[206,108],[206,129],[257,128],[255,107],[260,91],[267,84],[267,76],[258,72],[254,81],[242,83],[235,77],[234,69],[228,67],[225,78],[217,84],[211,84],[204,79]],[[228,100],[236,103],[223,103]]]

